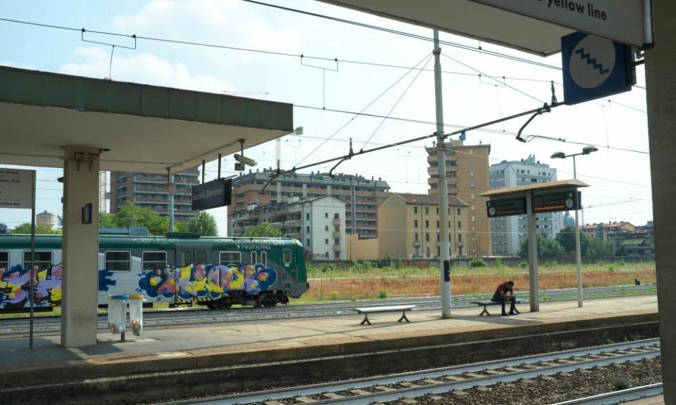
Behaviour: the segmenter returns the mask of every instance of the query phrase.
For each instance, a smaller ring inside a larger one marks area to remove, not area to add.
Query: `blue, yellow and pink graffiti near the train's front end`
[[[174,296],[179,300],[216,300],[226,297],[228,291],[267,291],[276,281],[277,271],[263,264],[196,264],[143,271],[137,292],[158,301]]]

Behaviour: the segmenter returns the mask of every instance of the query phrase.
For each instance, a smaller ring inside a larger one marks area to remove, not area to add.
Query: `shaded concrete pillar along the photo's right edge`
[[[655,47],[646,53],[646,83],[657,298],[666,405],[676,405],[676,2],[654,1]]]

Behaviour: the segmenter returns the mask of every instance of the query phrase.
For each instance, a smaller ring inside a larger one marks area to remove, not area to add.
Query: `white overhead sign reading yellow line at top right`
[[[641,0],[470,0],[526,17],[642,46],[644,16]],[[649,0],[645,0],[649,1]]]

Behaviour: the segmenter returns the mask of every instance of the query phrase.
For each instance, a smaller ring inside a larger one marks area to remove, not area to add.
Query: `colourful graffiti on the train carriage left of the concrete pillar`
[[[61,304],[61,264],[33,271],[23,269],[20,264],[9,269],[0,268],[0,309],[23,308],[29,305],[30,278],[33,278],[36,307]]]

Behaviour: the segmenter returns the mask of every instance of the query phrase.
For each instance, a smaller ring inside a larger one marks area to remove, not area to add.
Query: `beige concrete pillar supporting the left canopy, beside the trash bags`
[[[63,158],[61,345],[91,346],[99,291],[99,149],[68,146]],[[87,207],[91,224],[83,224]]]

